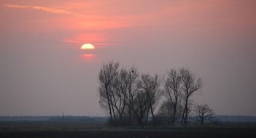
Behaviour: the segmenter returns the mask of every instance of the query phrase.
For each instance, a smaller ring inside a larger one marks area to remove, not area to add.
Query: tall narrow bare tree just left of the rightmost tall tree
[[[164,85],[164,94],[169,102],[166,102],[171,104],[168,105],[167,107],[171,107],[171,125],[174,125],[175,121],[177,120],[177,104],[178,100],[180,99],[181,95],[181,87],[180,84],[182,82],[182,78],[180,74],[174,70],[171,69],[167,73],[167,78],[163,80],[163,85]],[[170,109],[167,109],[170,110]],[[170,112],[170,111],[169,111]]]

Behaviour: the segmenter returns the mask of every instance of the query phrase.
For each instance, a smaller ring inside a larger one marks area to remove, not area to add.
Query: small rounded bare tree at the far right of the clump
[[[206,120],[211,120],[214,116],[214,110],[207,104],[195,106],[195,113],[198,115],[198,121],[201,125],[203,125]]]

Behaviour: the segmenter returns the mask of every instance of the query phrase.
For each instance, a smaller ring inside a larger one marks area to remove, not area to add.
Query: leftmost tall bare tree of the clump
[[[113,115],[115,117],[115,112],[112,106],[113,101],[112,101],[112,94],[110,93],[111,92],[110,88],[111,88],[111,85],[113,84],[113,80],[115,76],[117,76],[118,67],[119,67],[118,62],[109,62],[108,64],[104,64],[98,76],[100,81],[99,97],[100,97],[101,107],[106,107],[107,110],[109,110],[111,124],[113,120]],[[102,105],[102,104],[106,104],[106,105]]]

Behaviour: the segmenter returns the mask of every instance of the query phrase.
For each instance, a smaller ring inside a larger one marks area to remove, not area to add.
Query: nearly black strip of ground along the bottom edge
[[[78,138],[78,137],[256,137],[255,129],[182,129],[169,131],[12,131],[1,132],[1,138],[5,137],[60,137],[60,138]]]

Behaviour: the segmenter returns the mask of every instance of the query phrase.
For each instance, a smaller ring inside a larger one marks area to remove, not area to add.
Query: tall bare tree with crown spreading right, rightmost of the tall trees
[[[186,68],[182,68],[179,72],[182,78],[182,89],[184,92],[185,100],[181,124],[185,126],[187,125],[187,118],[190,111],[188,102],[190,100],[190,97],[202,88],[203,81],[201,81],[201,78],[195,78],[190,70]]]

